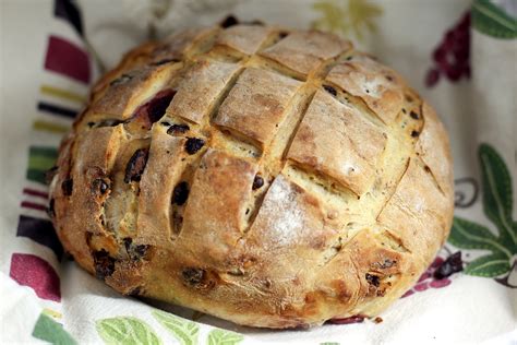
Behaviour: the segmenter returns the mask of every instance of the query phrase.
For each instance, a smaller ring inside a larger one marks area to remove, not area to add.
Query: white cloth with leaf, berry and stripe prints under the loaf
[[[513,0],[4,0],[1,3],[0,343],[517,342],[517,4]],[[375,320],[257,331],[125,298],[63,255],[46,171],[88,87],[134,45],[229,14],[349,37],[436,108],[456,216],[416,286]]]

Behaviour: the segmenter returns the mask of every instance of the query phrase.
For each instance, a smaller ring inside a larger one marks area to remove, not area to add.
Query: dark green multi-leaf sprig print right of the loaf
[[[465,270],[466,274],[498,277],[496,282],[517,288],[508,282],[517,265],[517,222],[512,216],[512,177],[503,158],[489,144],[480,145],[478,157],[481,166],[483,212],[497,231],[455,217],[448,241],[457,248],[491,252],[470,262]]]

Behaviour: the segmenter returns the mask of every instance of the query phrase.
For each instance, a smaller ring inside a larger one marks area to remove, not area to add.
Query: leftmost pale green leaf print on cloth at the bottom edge
[[[156,333],[145,322],[131,317],[98,320],[97,332],[106,344],[159,345]]]

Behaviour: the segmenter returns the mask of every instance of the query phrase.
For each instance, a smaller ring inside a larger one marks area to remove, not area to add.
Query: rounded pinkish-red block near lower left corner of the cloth
[[[39,257],[13,253],[9,275],[20,285],[32,287],[39,298],[61,301],[59,276],[52,266]]]

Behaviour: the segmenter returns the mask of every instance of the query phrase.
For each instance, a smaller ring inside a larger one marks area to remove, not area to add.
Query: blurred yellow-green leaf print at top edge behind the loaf
[[[322,16],[312,27],[344,35],[352,33],[359,40],[364,29],[376,31],[375,17],[383,13],[382,8],[366,0],[318,0],[313,9]]]

